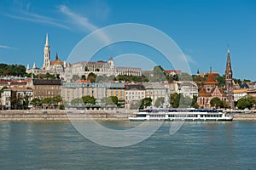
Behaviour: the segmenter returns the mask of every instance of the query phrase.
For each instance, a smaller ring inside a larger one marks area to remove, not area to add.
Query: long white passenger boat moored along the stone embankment
[[[129,116],[130,121],[232,121],[215,109],[144,109]]]

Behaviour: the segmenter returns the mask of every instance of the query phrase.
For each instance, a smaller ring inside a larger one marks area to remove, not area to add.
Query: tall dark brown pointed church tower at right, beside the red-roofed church
[[[227,94],[227,103],[231,109],[234,109],[234,95],[233,95],[233,77],[232,77],[232,68],[230,62],[230,48],[228,46],[227,54],[227,65],[225,71],[225,90]]]

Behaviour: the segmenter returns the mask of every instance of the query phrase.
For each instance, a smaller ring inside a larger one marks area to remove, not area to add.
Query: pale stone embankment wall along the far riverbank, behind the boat
[[[17,110],[0,111],[0,122],[128,121],[131,110]],[[256,122],[256,113],[228,113],[233,121]]]

